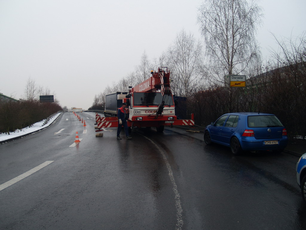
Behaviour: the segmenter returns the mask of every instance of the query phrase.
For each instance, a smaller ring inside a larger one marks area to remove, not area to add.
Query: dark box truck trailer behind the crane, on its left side
[[[105,95],[105,117],[116,117],[118,108],[122,106],[122,99],[125,98],[127,92],[116,92]]]

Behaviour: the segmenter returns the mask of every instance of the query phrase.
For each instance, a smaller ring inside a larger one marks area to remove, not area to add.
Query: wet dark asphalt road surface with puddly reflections
[[[53,161],[0,191],[0,229],[306,229],[298,157],[233,156],[178,128],[95,137],[80,116],[0,145],[0,185]]]

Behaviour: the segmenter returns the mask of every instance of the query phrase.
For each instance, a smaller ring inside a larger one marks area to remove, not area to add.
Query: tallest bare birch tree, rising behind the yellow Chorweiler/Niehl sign
[[[197,19],[206,43],[207,70],[219,82],[260,56],[255,34],[262,13],[256,2],[206,0],[200,6]]]

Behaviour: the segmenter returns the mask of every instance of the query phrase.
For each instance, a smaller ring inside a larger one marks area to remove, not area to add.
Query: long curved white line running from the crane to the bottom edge
[[[140,134],[140,133],[138,133]],[[182,229],[182,226],[183,226],[183,217],[182,217],[182,212],[183,212],[183,209],[182,209],[182,206],[181,206],[181,199],[180,199],[180,194],[179,192],[177,191],[177,185],[175,183],[175,180],[174,180],[174,176],[173,176],[173,172],[171,170],[171,166],[166,158],[166,155],[164,154],[164,152],[162,151],[161,148],[159,148],[159,146],[157,144],[154,143],[153,140],[151,140],[150,138],[140,134],[141,136],[147,138],[149,141],[151,141],[152,144],[155,145],[155,147],[159,150],[159,152],[162,154],[162,157],[166,163],[166,166],[167,166],[167,169],[168,169],[168,175],[170,177],[170,181],[173,185],[173,192],[174,192],[174,195],[175,195],[175,207],[176,207],[176,218],[177,218],[177,224],[176,224],[176,230],[180,230]]]

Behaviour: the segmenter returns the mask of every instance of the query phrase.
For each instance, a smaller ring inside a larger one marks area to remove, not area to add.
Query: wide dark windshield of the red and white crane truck
[[[160,92],[147,92],[147,93],[134,93],[134,105],[160,105],[162,104],[162,93]],[[164,96],[165,105],[173,105],[172,95]]]

